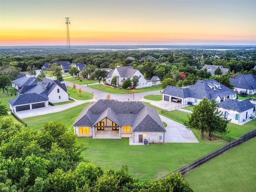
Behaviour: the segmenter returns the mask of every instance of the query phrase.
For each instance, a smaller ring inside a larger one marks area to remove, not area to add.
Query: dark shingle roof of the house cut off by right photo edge
[[[256,76],[252,74],[237,74],[236,78],[230,78],[230,83],[236,88],[256,89]]]

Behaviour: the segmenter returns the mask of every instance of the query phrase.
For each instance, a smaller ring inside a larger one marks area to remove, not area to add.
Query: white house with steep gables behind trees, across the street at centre
[[[128,79],[132,80],[133,76],[138,76],[139,84],[136,88],[150,87],[152,81],[146,80],[139,70],[134,69],[132,66],[120,67],[117,66],[113,71],[109,72],[106,78],[106,83],[111,84],[111,80],[114,76],[117,77],[117,86],[121,86],[122,83]]]

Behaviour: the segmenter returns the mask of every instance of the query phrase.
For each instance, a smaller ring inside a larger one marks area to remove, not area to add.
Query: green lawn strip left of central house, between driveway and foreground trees
[[[70,128],[70,126],[72,126],[80,112],[88,104],[90,104],[90,102],[78,105],[76,107],[61,112],[24,118],[22,120],[24,120],[24,122],[28,124],[28,127],[31,127],[33,130],[38,131],[40,131],[44,122],[50,122],[54,120],[61,121],[66,125],[67,128]]]

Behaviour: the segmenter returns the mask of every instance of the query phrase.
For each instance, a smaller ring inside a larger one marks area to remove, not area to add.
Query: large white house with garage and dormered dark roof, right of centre
[[[236,92],[213,79],[198,80],[188,87],[167,86],[162,92],[162,100],[180,102],[182,105],[198,105],[204,97],[219,103],[226,99],[236,99]]]

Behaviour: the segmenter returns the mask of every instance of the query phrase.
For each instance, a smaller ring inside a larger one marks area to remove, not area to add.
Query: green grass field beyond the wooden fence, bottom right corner
[[[233,148],[185,176],[195,192],[255,192],[256,138]]]

